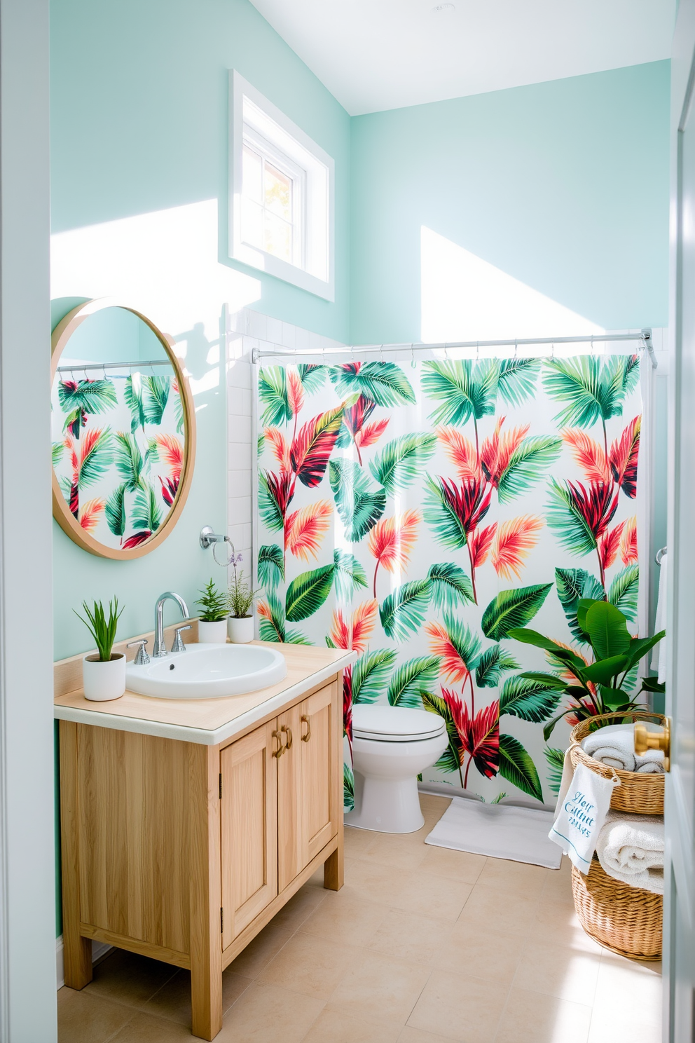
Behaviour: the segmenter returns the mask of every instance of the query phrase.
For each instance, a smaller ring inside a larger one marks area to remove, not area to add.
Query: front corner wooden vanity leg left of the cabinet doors
[[[213,1040],[222,1028],[220,924],[220,752],[189,744],[192,1033]]]

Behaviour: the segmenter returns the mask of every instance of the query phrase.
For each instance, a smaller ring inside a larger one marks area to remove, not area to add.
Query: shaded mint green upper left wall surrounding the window
[[[248,0],[51,0],[54,232],[220,201],[226,260],[227,69],[336,161],[336,302],[262,275],[253,307],[348,334],[350,118]]]

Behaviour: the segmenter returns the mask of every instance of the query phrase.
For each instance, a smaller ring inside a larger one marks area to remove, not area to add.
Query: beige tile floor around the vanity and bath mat
[[[560,872],[427,847],[425,826],[346,829],[346,883],[317,874],[224,973],[218,1043],[659,1043],[661,975],[581,930]],[[59,1043],[178,1043],[190,977],[115,951],[58,993]]]

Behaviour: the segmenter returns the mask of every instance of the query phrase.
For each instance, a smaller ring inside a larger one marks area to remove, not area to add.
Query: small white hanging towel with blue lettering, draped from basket
[[[581,873],[588,873],[598,834],[611,807],[617,775],[604,779],[585,765],[577,765],[567,793],[557,807],[557,816],[548,833]]]

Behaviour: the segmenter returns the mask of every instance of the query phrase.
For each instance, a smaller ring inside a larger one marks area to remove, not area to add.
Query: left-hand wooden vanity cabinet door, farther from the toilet
[[[222,947],[277,895],[277,760],[272,721],[222,750]]]

